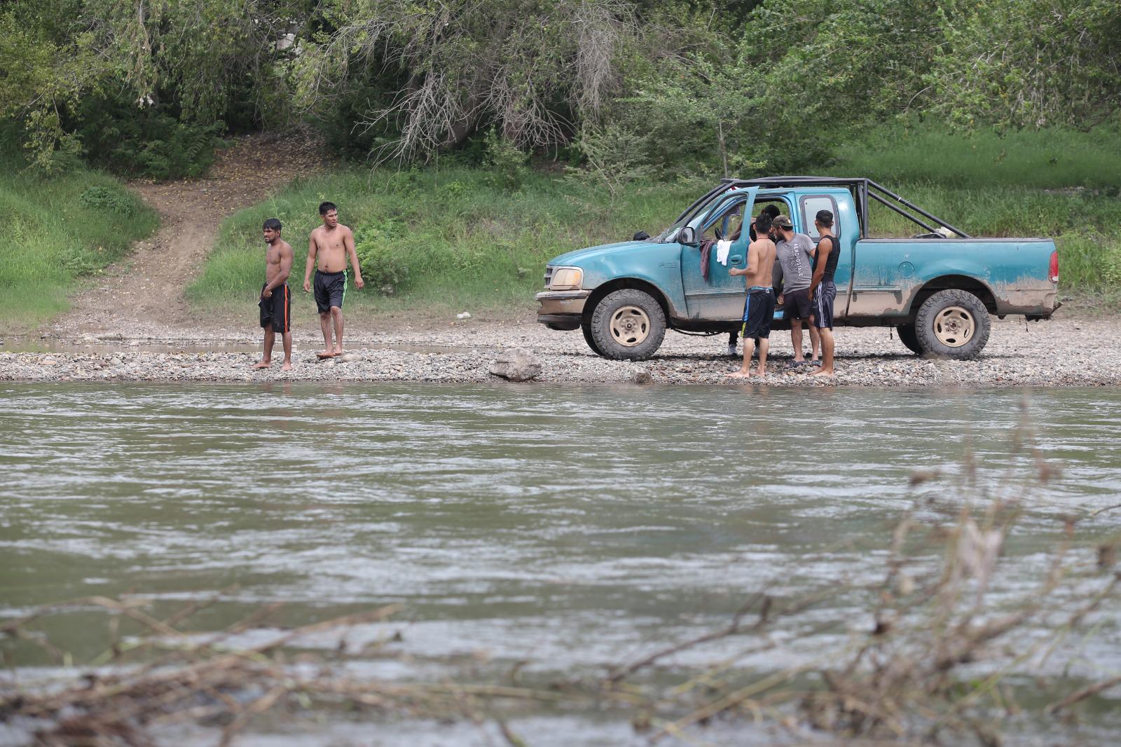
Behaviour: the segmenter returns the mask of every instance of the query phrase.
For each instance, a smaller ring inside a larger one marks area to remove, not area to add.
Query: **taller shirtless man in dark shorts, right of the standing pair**
[[[354,234],[339,222],[339,209],[332,202],[319,205],[323,225],[312,231],[307,240],[307,268],[304,271],[304,290],[312,290],[312,268],[315,267],[315,305],[319,310],[323,329],[322,358],[343,354],[343,298],[346,297],[346,257],[354,268],[354,285],[361,289],[362,270],[358,268]],[[316,262],[316,259],[318,262]],[[335,344],[331,344],[331,325],[334,322]]]

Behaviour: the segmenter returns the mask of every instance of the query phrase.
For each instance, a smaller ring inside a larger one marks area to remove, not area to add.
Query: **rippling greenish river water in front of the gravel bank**
[[[1121,504],[1117,412],[1115,389],[0,384],[0,620],[90,594],[169,612],[238,584],[195,625],[272,601],[288,624],[399,602],[358,635],[400,633],[415,658],[374,676],[447,676],[436,662],[453,660],[602,672],[726,624],[750,592],[882,574],[917,498],[1023,497],[998,592],[1022,590],[1065,516],[1082,517],[1087,556],[1115,532],[1121,509],[1091,515]],[[1040,458],[1062,477],[1038,483]],[[910,487],[915,470],[943,477]],[[867,621],[855,600],[835,605]],[[1121,668],[1117,611],[1083,642],[1081,676]],[[57,639],[93,655],[99,619],[64,616]],[[593,714],[535,718],[529,744],[633,738]],[[475,739],[396,728],[410,744]]]

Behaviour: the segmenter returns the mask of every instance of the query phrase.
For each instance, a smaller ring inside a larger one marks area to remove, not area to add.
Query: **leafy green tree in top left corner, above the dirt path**
[[[135,129],[133,117],[170,117],[166,137],[205,159],[197,133],[240,109],[238,99],[254,102],[254,126],[282,114],[285,77],[275,73],[290,53],[277,42],[297,10],[284,0],[13,0],[0,11],[0,112],[21,122],[26,148],[46,170],[82,153],[91,113],[104,119],[122,101],[136,113],[110,130]],[[165,150],[154,140],[130,145]]]

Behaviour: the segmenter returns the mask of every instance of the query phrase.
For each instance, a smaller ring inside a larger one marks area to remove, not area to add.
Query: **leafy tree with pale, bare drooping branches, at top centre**
[[[353,71],[396,77],[362,122],[390,133],[379,158],[427,158],[489,125],[520,148],[564,142],[620,90],[617,56],[634,33],[623,0],[327,0],[319,12],[297,99],[314,112]]]

